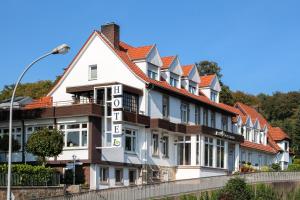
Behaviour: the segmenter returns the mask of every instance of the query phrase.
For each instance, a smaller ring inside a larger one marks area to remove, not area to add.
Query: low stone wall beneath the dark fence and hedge
[[[21,186],[12,187],[15,200],[32,200],[37,197],[60,196],[64,194],[63,186]],[[0,199],[6,199],[6,187],[0,187]]]

